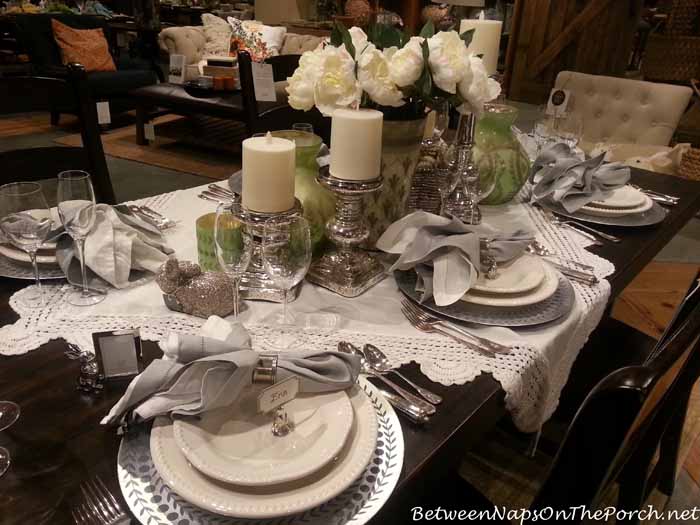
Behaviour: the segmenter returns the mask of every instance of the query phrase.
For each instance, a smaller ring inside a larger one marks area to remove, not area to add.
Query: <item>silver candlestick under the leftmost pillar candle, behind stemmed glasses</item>
[[[240,297],[261,301],[281,303],[284,301],[284,290],[277,288],[265,270],[262,255],[262,243],[265,235],[265,225],[276,223],[284,224],[290,219],[302,214],[303,208],[298,199],[294,199],[294,206],[287,211],[278,213],[264,213],[249,210],[243,206],[236,218],[245,224],[253,241],[253,253],[250,257],[248,269],[241,278]],[[301,283],[289,290],[288,300],[293,301],[299,295]]]

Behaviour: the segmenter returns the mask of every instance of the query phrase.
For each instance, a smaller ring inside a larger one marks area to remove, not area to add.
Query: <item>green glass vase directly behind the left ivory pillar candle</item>
[[[296,144],[296,173],[294,195],[304,208],[304,218],[311,229],[311,249],[317,253],[326,237],[326,222],[335,214],[335,195],[316,182],[316,157],[322,139],[306,131],[273,131],[272,135],[294,141]]]

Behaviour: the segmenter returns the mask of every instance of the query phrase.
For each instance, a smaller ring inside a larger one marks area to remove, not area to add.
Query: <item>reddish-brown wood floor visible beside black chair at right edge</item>
[[[698,271],[697,264],[652,262],[615,303],[613,317],[657,338]],[[700,487],[700,382],[695,385],[681,445],[687,475]],[[700,502],[695,502],[697,505]]]

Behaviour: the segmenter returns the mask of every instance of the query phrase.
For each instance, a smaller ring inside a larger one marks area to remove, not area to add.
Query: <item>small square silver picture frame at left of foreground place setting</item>
[[[143,370],[138,328],[96,332],[92,341],[99,373],[105,380],[130,378]]]

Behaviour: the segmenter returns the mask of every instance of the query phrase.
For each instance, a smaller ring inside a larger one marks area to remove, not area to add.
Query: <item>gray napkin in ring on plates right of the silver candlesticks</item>
[[[400,254],[389,272],[415,268],[422,301],[434,297],[436,305],[447,306],[461,299],[487,269],[484,255],[504,263],[522,255],[533,239],[524,230],[502,233],[417,211],[390,225],[377,248]],[[488,254],[482,253],[482,240],[488,241]]]

